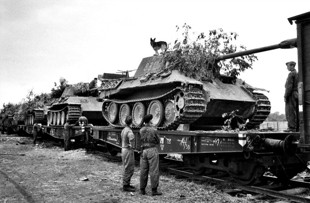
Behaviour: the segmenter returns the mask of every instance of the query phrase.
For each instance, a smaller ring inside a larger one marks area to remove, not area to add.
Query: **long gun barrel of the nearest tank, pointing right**
[[[225,59],[229,59],[229,58],[235,58],[235,57],[239,57],[239,56],[249,55],[252,53],[259,53],[259,52],[263,52],[263,51],[270,51],[270,50],[276,50],[276,49],[292,49],[292,48],[297,47],[296,40],[297,40],[296,38],[287,39],[287,40],[280,42],[279,44],[275,44],[275,45],[271,45],[271,46],[229,53],[229,54],[225,54],[222,56],[218,56],[215,60],[221,61],[221,60],[225,60]]]

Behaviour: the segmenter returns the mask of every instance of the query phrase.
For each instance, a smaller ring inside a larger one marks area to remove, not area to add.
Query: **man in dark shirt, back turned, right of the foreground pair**
[[[154,196],[162,195],[162,193],[157,190],[159,184],[159,155],[156,144],[160,142],[160,137],[157,130],[151,125],[152,118],[152,114],[145,115],[145,126],[140,129],[140,194],[145,195],[145,187],[150,173],[152,196]]]

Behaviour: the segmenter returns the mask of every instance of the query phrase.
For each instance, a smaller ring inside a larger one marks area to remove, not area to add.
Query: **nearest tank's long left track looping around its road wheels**
[[[155,97],[149,97],[149,98],[142,98],[142,99],[134,99],[134,100],[117,100],[117,99],[110,99],[106,100],[103,103],[103,117],[109,122],[109,124],[115,128],[124,128],[125,126],[122,126],[119,124],[119,121],[116,121],[115,123],[111,123],[109,121],[108,115],[107,115],[107,106],[105,104],[108,104],[108,102],[115,102],[118,104],[128,103],[130,106],[133,106],[135,102],[142,102],[145,105],[145,108],[147,109],[148,104],[152,100],[161,100],[164,102],[173,100],[175,93],[178,91],[182,91],[184,93],[183,98],[185,99],[185,106],[183,108],[183,112],[180,113],[175,120],[173,120],[169,124],[162,124],[161,126],[156,127],[158,130],[174,130],[176,129],[179,124],[190,124],[200,118],[202,114],[205,112],[206,109],[206,101],[204,98],[204,95],[202,93],[202,90],[197,88],[182,88],[178,87],[170,92],[155,96]],[[164,122],[163,122],[164,123]],[[134,129],[140,129],[141,127],[133,126]]]

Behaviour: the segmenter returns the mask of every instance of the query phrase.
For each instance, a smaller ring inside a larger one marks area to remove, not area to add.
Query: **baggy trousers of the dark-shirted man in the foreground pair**
[[[143,150],[140,158],[140,188],[147,186],[147,179],[150,173],[151,188],[159,184],[159,155],[157,148]]]

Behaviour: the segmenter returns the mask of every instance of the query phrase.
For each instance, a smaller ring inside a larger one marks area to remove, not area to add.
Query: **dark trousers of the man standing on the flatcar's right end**
[[[299,130],[298,91],[292,91],[285,102],[285,117],[289,128]]]

